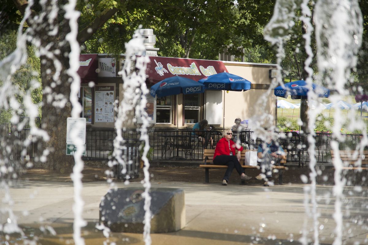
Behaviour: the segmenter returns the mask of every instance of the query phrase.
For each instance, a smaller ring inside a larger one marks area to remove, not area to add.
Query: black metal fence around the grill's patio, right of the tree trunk
[[[194,131],[186,129],[150,129],[148,131],[149,144],[153,149],[153,160],[202,160],[204,148],[215,148],[217,141],[222,138],[222,130]],[[98,129],[90,127],[86,134],[85,159],[108,159],[113,151],[113,139],[116,136],[114,129]],[[122,132],[124,139],[139,139],[140,133],[136,129]],[[261,139],[254,138],[253,131],[243,131],[234,134],[239,137],[241,145],[246,149],[257,149]],[[345,135],[347,138],[359,142],[362,135]],[[236,139],[234,139],[236,140]],[[330,159],[330,142],[332,134],[316,133],[315,157],[317,162],[328,163]],[[281,132],[279,143],[287,150],[287,162],[304,164],[309,162],[308,146],[297,132]]]

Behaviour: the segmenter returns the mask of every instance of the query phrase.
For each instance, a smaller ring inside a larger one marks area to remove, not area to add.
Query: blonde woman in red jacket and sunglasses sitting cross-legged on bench
[[[222,180],[222,185],[227,185],[231,172],[235,167],[236,171],[240,175],[241,180],[250,180],[252,177],[245,175],[243,168],[241,167],[240,152],[243,151],[243,147],[240,146],[238,153],[235,154],[236,144],[231,140],[233,133],[231,129],[225,129],[222,133],[222,138],[217,142],[215,148],[215,154],[213,155],[213,164],[215,165],[227,165],[225,176]]]

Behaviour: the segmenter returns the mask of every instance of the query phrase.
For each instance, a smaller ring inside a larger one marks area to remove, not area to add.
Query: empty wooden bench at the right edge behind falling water
[[[332,161],[337,156],[335,151],[331,151]],[[343,161],[343,169],[368,169],[368,151],[355,150],[340,150],[339,156],[341,161]],[[358,166],[358,160],[361,159],[361,166]]]

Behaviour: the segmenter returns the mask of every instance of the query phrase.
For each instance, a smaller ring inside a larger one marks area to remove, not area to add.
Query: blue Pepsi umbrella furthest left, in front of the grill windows
[[[165,78],[161,82],[151,87],[152,97],[164,97],[175,94],[199,94],[205,92],[205,86],[195,80],[183,78],[181,76],[172,76]]]

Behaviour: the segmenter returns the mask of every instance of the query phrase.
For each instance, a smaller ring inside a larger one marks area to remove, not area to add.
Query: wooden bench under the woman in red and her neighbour
[[[248,150],[241,151],[241,159],[240,159],[240,165],[243,167],[243,169],[260,169],[259,166],[248,166],[244,165],[244,159],[245,159],[245,153]],[[236,151],[237,152],[237,151]],[[209,183],[209,169],[226,169],[226,165],[214,165],[213,164],[213,154],[215,153],[215,149],[204,149],[203,152],[203,162],[204,164],[199,165],[199,167],[203,167],[205,169],[205,181],[206,183]],[[211,164],[212,163],[212,164]],[[282,159],[280,161],[280,166],[272,166],[274,169],[279,169],[279,184],[282,185],[282,170],[287,170],[287,167],[284,166],[286,163],[286,160]],[[244,183],[244,180],[241,181]]]

